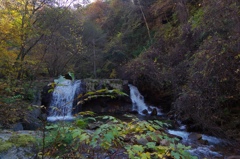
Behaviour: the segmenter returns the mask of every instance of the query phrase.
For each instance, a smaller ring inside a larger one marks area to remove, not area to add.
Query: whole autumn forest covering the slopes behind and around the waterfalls
[[[43,81],[124,79],[189,130],[240,141],[239,0],[0,2],[0,125]]]

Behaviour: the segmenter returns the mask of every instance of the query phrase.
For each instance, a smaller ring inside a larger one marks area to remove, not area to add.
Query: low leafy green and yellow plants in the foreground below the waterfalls
[[[140,121],[133,116],[131,122],[123,122],[112,116],[83,115],[73,124],[46,126],[45,153],[40,154],[56,158],[194,158],[186,151],[190,147],[163,131],[166,123]],[[86,129],[88,124],[96,124],[96,130]]]

